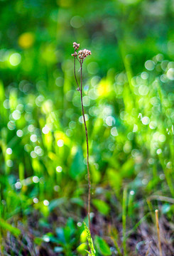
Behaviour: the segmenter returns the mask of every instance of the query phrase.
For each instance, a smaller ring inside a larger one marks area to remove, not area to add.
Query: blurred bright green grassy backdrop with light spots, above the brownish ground
[[[74,41],[92,51],[83,68],[92,212],[121,221],[125,186],[130,218],[151,194],[174,196],[173,1],[1,0],[0,14],[1,218],[87,214]]]

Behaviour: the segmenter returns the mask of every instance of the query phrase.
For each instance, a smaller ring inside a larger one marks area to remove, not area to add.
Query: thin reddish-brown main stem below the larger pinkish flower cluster
[[[87,198],[87,216],[88,216],[88,224],[90,230],[90,201],[91,201],[91,181],[90,181],[90,172],[89,172],[89,143],[88,143],[88,134],[87,134],[87,124],[85,120],[85,112],[83,107],[83,97],[82,97],[82,63],[80,63],[80,96],[81,96],[81,105],[82,105],[82,115],[83,121],[85,125],[85,134],[87,140],[87,179],[88,179],[88,198]]]

